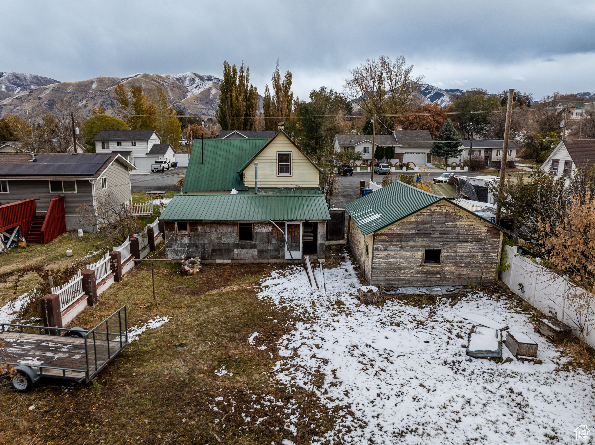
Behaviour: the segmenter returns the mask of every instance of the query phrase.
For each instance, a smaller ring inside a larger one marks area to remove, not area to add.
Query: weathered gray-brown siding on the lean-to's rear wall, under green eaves
[[[275,223],[281,229],[285,227],[283,221]],[[325,223],[318,222],[318,253],[311,255],[312,258],[324,259]],[[165,253],[168,258],[196,257],[207,263],[292,262],[285,258],[283,235],[269,222],[254,222],[252,241],[238,240],[237,222],[189,222],[188,235],[176,233],[175,224],[165,222]]]

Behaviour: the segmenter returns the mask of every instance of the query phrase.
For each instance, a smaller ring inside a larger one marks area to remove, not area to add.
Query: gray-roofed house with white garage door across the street
[[[392,134],[377,134],[374,143],[375,147],[394,147],[394,158],[389,159],[390,162],[412,162],[415,165],[431,162],[432,136],[427,130],[394,130]],[[336,134],[333,145],[337,152],[361,153],[360,162],[372,165],[371,134]]]

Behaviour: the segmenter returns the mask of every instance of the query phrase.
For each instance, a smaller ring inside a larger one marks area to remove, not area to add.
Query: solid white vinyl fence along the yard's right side
[[[508,270],[502,272],[502,280],[522,299],[541,312],[558,318],[562,323],[572,327],[577,336],[595,348],[595,307],[591,305],[588,313],[577,313],[568,297],[583,292],[566,279],[552,273],[546,267],[533,263],[529,258],[517,254],[517,246],[504,246],[510,264]],[[584,326],[581,335],[580,326]]]

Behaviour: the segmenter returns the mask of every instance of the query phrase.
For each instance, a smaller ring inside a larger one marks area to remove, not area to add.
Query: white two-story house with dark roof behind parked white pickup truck
[[[150,169],[156,160],[173,162],[176,156],[176,149],[161,144],[155,130],[101,130],[93,141],[95,153],[118,153],[139,169]]]

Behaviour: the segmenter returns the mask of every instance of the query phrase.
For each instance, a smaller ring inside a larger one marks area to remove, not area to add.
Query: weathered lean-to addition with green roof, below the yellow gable
[[[180,194],[159,217],[167,257],[201,263],[324,261],[328,219],[321,194]]]

